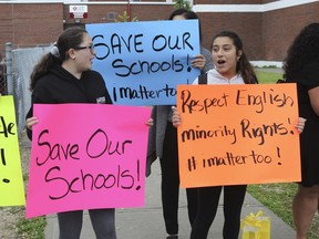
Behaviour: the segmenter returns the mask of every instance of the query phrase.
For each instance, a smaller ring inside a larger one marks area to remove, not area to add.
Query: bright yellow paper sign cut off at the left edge
[[[25,205],[13,97],[0,96],[0,206]]]

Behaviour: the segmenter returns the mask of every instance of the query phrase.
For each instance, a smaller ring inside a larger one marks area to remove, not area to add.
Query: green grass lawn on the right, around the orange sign
[[[276,83],[278,79],[282,79],[282,74],[266,72],[263,69],[256,70],[256,74],[260,84]],[[297,190],[297,184],[265,184],[265,185],[249,185],[248,193],[281,218],[286,224],[295,228],[292,222],[291,204]],[[308,232],[308,239],[318,239],[319,233],[319,216],[316,215],[311,229]]]

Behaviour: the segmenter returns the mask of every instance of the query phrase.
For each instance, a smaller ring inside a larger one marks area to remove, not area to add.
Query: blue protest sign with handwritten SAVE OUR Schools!
[[[199,71],[197,20],[86,24],[96,51],[93,67],[114,104],[176,104],[176,85],[189,84]]]

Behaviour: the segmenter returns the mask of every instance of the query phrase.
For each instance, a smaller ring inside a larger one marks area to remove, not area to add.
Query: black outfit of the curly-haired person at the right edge
[[[319,63],[300,69],[287,82],[297,83],[299,115],[307,119],[300,134],[301,185],[310,187],[319,184],[319,116],[311,107],[308,91],[319,86]]]

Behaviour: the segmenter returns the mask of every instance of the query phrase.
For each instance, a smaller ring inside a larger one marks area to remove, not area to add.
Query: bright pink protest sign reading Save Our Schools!
[[[27,218],[144,206],[150,107],[34,105]]]

